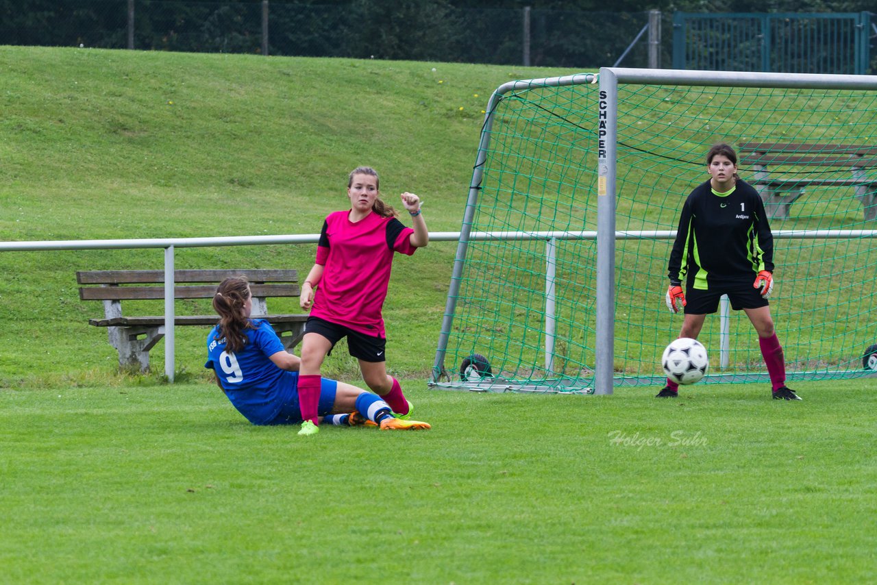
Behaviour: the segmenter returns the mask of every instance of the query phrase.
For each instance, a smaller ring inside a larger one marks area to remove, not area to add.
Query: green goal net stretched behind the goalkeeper
[[[439,387],[593,388],[597,90],[536,81],[491,101]],[[660,355],[681,327],[664,303],[672,235],[716,142],[738,149],[771,217],[788,379],[874,374],[877,91],[620,84],[617,109],[615,385],[663,385]],[[699,339],[703,382],[768,379],[742,311],[708,317]]]

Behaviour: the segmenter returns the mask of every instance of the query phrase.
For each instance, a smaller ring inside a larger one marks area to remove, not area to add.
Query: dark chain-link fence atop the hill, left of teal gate
[[[39,10],[35,8],[39,6]],[[666,30],[671,30],[665,18]],[[0,44],[595,68],[648,67],[647,12],[175,0],[0,0]],[[664,43],[667,45],[667,43]],[[626,52],[626,54],[625,54]],[[660,61],[669,63],[669,46]],[[652,58],[653,61],[653,58]]]

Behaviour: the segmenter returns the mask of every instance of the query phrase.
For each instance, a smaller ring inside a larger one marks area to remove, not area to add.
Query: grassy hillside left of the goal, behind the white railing
[[[0,239],[315,233],[346,206],[346,175],[360,164],[378,169],[391,203],[403,190],[421,195],[431,231],[458,231],[492,90],[569,73],[0,47]],[[434,243],[396,262],[385,317],[397,374],[424,377],[431,367],[454,249]],[[313,253],[192,248],[177,252],[176,267],[306,271]],[[0,387],[106,383],[116,353],[88,325],[103,310],[79,300],[75,271],[162,262],[160,250],[0,254]],[[181,376],[203,375],[205,333],[178,329]],[[353,369],[340,355],[330,361],[330,372]],[[152,363],[163,371],[163,346]]]

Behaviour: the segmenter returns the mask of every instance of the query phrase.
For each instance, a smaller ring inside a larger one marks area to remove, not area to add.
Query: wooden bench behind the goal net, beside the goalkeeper
[[[792,203],[808,187],[837,186],[853,189],[866,221],[877,219],[877,179],[866,174],[877,165],[877,146],[744,142],[738,156],[741,167],[752,169],[752,186],[769,218],[788,218]],[[819,173],[824,176],[802,176],[808,167],[823,168]],[[848,177],[842,176],[847,172]]]

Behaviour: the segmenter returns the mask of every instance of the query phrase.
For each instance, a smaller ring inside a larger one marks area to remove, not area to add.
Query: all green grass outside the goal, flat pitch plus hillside
[[[0,47],[0,71],[4,240],[315,233],[359,164],[458,231],[489,93],[573,73],[32,47]],[[873,379],[796,384],[801,403],[764,384],[430,390],[454,250],[397,261],[385,310],[389,368],[433,429],[308,440],[232,409],[206,329],[177,332],[175,384],[117,372],[75,271],[160,250],[0,254],[0,582],[877,581]],[[326,371],[355,377],[343,353]]]

